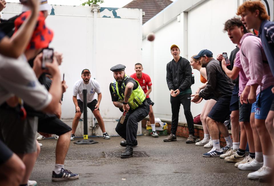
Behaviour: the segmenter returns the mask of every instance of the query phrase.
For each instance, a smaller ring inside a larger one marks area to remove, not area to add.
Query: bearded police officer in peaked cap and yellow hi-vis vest
[[[130,158],[133,154],[132,146],[137,145],[138,122],[148,115],[149,105],[138,81],[126,75],[125,68],[126,66],[121,64],[110,68],[115,80],[110,83],[109,90],[114,106],[126,112],[124,123],[120,123],[120,118],[115,130],[126,140],[120,143],[126,147],[121,158]]]

